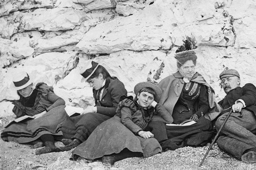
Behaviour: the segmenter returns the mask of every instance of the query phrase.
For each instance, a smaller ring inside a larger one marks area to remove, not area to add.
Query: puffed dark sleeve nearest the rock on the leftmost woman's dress
[[[61,106],[61,105],[65,105],[65,101],[64,99],[62,99],[61,97],[57,96],[54,92],[53,92],[53,88],[48,86],[47,84],[40,82],[36,85],[36,89],[38,91],[41,91],[42,96],[52,102],[52,105],[50,105],[48,108],[46,108],[46,111],[51,110],[52,108],[55,108],[57,106]]]

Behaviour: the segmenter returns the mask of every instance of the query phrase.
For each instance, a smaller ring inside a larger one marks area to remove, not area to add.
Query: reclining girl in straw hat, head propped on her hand
[[[162,91],[153,82],[140,82],[134,87],[134,93],[137,94],[134,100],[132,96],[121,98],[116,115],[96,127],[89,138],[73,150],[74,157],[91,160],[103,157],[103,163],[113,164],[128,157],[148,157],[162,151],[147,130],[153,115],[160,116],[163,123],[172,122],[171,115],[157,104]]]

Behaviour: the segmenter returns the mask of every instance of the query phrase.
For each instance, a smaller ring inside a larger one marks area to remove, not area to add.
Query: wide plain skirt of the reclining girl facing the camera
[[[89,138],[73,150],[73,155],[93,160],[104,155],[120,153],[125,148],[131,152],[143,153],[144,157],[162,151],[156,139],[135,136],[120,122],[119,117],[114,116],[96,127]]]

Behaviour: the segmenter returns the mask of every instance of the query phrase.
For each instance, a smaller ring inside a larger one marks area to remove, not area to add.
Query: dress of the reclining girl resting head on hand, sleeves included
[[[116,110],[116,116],[100,124],[89,138],[73,150],[73,155],[86,159],[97,159],[104,155],[120,153],[124,149],[142,153],[144,157],[162,152],[162,147],[155,138],[144,139],[137,136],[145,130],[153,116],[160,116],[164,123],[172,121],[166,109],[157,104],[154,108],[144,110],[136,101],[122,100]]]

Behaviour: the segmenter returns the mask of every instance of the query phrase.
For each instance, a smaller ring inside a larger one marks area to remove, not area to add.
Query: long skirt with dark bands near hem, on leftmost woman
[[[1,138],[6,142],[28,143],[44,134],[62,136],[61,124],[68,117],[65,106],[58,106],[51,109],[38,119],[26,122],[13,123],[3,130]]]

